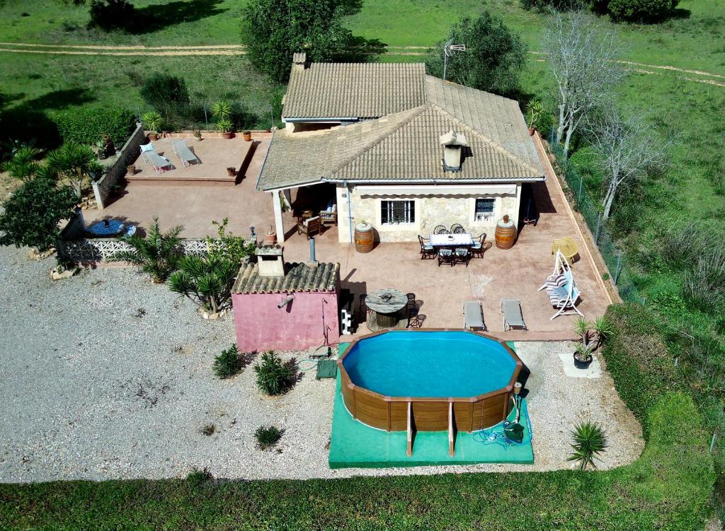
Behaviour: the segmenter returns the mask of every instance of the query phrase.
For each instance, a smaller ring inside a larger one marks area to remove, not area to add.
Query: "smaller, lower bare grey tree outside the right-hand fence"
[[[635,114],[623,117],[614,107],[595,123],[587,120],[585,127],[605,175],[602,215],[607,219],[620,187],[637,180],[648,167],[662,164],[671,141],[659,143],[652,127],[642,117]]]

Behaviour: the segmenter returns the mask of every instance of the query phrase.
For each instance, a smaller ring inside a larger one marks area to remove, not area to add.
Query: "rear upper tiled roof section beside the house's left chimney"
[[[378,118],[426,101],[423,63],[312,63],[293,68],[283,118]]]

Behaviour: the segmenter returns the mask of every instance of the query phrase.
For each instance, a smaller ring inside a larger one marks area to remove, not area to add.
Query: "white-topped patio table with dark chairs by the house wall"
[[[418,235],[418,242],[421,244],[421,260],[437,259],[438,265],[463,263],[468,267],[468,262],[473,258],[483,258],[484,252],[491,248],[491,242],[486,241],[486,233],[476,238],[463,228],[463,225],[451,225],[450,229],[445,225],[435,227],[433,234],[428,238]]]

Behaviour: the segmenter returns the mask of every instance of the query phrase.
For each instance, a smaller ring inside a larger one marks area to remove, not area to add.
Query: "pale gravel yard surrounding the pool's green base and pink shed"
[[[217,380],[211,364],[233,342],[231,317],[204,321],[189,301],[131,269],[54,283],[53,265],[0,248],[0,482],[181,477],[191,467],[229,478],[568,468],[566,432],[580,417],[608,428],[602,468],[636,459],[642,448],[608,376],[567,378],[557,354],[571,347],[518,343],[534,373],[533,467],[331,470],[332,380],[306,373],[281,398],[257,391],[251,366]],[[253,432],[268,424],[285,433],[277,448],[260,451]],[[215,426],[212,435],[202,434],[206,425]]]

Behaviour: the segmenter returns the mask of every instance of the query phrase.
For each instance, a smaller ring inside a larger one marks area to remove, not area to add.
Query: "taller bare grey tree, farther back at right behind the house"
[[[613,86],[624,75],[616,65],[618,38],[583,10],[554,11],[542,47],[558,87],[556,141],[564,139],[568,156],[571,135],[581,120],[595,107],[611,102]]]

